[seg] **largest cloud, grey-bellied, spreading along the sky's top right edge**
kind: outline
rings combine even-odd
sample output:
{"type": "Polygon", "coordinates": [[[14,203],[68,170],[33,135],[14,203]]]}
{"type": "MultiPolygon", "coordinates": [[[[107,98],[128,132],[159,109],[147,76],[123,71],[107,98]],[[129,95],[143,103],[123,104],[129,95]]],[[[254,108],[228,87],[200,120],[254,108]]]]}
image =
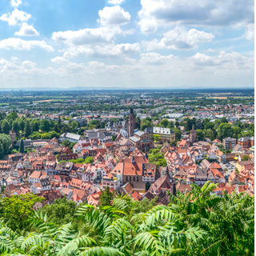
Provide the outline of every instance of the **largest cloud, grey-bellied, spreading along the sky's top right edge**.
{"type": "Polygon", "coordinates": [[[143,33],[159,26],[247,26],[254,23],[254,1],[141,0],[138,24],[143,33]]]}

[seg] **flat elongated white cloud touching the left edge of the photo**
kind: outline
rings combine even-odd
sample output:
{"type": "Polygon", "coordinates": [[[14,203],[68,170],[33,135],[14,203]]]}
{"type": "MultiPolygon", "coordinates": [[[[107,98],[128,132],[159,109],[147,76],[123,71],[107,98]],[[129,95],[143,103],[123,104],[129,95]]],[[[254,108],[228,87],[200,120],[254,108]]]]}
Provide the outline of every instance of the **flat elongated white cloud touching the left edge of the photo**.
{"type": "Polygon", "coordinates": [[[50,52],[54,51],[54,48],[52,46],[48,46],[45,41],[25,41],[20,38],[7,38],[0,41],[0,49],[31,50],[35,47],[39,47],[50,52]]]}

